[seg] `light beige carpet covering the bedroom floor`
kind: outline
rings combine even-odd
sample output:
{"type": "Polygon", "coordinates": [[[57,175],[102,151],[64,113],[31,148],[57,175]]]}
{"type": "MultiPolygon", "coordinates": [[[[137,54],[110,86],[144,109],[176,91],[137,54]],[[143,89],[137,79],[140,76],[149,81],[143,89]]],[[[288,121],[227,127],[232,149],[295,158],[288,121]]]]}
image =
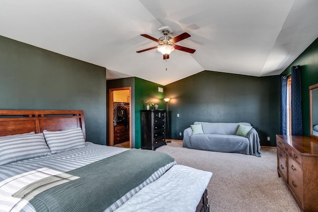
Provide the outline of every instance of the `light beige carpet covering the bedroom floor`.
{"type": "Polygon", "coordinates": [[[261,157],[183,148],[172,141],[156,151],[178,164],[210,171],[210,212],[300,212],[283,179],[277,175],[276,149],[261,149],[261,157]]]}

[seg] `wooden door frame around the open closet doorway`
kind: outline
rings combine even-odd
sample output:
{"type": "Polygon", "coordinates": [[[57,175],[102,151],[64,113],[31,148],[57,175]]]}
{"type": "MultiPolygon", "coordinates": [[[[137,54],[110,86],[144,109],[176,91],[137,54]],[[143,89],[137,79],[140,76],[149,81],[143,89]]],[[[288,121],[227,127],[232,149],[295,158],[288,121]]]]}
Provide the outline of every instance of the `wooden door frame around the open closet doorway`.
{"type": "Polygon", "coordinates": [[[131,148],[131,87],[109,88],[109,145],[114,145],[114,91],[129,90],[129,148],[131,148]]]}

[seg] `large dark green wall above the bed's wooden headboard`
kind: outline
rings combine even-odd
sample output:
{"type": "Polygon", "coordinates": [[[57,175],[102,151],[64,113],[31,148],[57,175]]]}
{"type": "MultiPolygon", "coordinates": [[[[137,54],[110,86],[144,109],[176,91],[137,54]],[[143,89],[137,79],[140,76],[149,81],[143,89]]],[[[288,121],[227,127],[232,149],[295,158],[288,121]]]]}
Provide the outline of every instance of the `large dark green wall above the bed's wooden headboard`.
{"type": "Polygon", "coordinates": [[[0,109],[83,110],[106,144],[106,69],[0,36],[0,109]]]}

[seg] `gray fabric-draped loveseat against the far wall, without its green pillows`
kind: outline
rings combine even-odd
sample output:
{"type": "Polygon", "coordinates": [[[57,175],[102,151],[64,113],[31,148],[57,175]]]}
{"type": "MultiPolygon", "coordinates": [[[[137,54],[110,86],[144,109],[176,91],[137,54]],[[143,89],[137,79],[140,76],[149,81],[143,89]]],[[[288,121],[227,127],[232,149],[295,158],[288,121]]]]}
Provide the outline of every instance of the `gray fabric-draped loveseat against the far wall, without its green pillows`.
{"type": "Polygon", "coordinates": [[[204,134],[192,135],[192,129],[183,132],[183,147],[220,152],[237,152],[255,154],[260,157],[258,133],[252,128],[246,137],[237,136],[239,125],[251,126],[249,123],[209,123],[194,122],[202,125],[204,134]]]}

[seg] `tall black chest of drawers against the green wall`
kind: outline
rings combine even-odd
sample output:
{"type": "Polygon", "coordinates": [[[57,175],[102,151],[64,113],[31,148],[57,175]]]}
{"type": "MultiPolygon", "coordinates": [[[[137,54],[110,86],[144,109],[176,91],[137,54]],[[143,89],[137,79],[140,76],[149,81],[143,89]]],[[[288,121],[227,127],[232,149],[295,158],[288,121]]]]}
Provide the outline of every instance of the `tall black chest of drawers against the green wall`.
{"type": "Polygon", "coordinates": [[[141,148],[155,150],[165,143],[165,110],[141,111],[141,148]]]}

